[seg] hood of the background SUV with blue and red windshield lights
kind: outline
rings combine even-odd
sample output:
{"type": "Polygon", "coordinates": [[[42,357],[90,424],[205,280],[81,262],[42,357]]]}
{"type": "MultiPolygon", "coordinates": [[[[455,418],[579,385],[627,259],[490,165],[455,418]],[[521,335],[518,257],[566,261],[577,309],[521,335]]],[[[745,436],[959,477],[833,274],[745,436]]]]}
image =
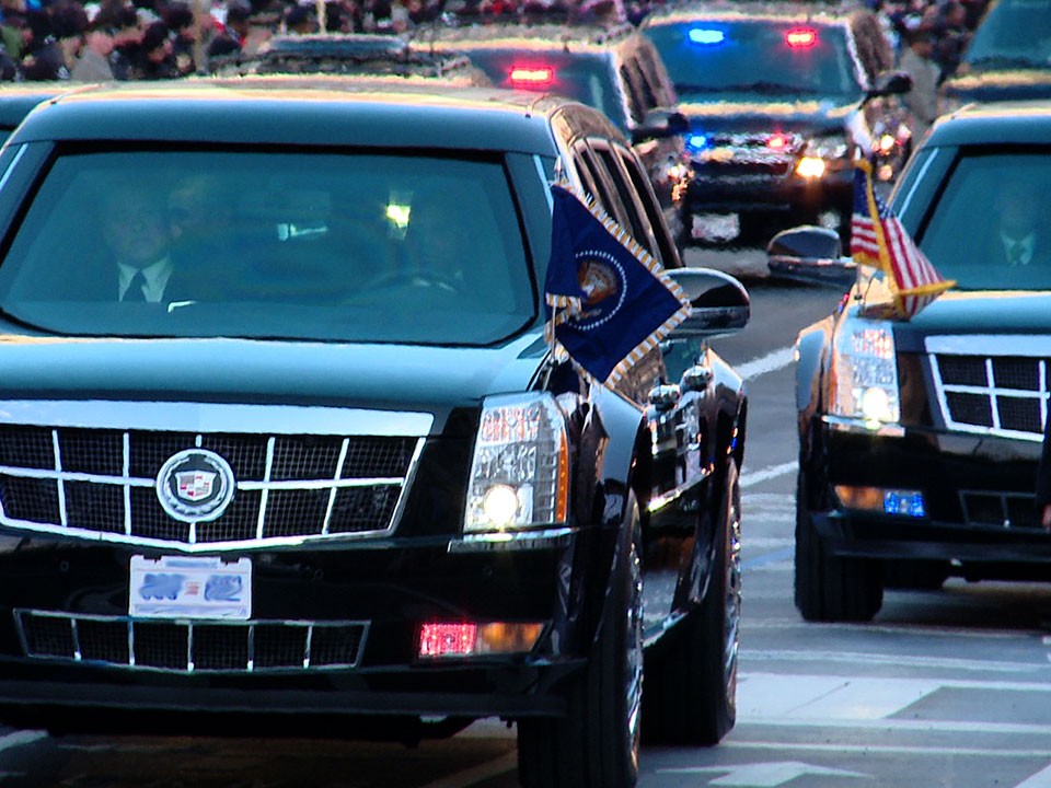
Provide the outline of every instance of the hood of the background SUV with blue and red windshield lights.
{"type": "Polygon", "coordinates": [[[857,108],[856,102],[843,103],[842,99],[760,101],[753,96],[750,101],[734,101],[727,100],[726,94],[709,95],[711,101],[681,97],[679,108],[695,131],[833,134],[843,130],[857,108]]]}

